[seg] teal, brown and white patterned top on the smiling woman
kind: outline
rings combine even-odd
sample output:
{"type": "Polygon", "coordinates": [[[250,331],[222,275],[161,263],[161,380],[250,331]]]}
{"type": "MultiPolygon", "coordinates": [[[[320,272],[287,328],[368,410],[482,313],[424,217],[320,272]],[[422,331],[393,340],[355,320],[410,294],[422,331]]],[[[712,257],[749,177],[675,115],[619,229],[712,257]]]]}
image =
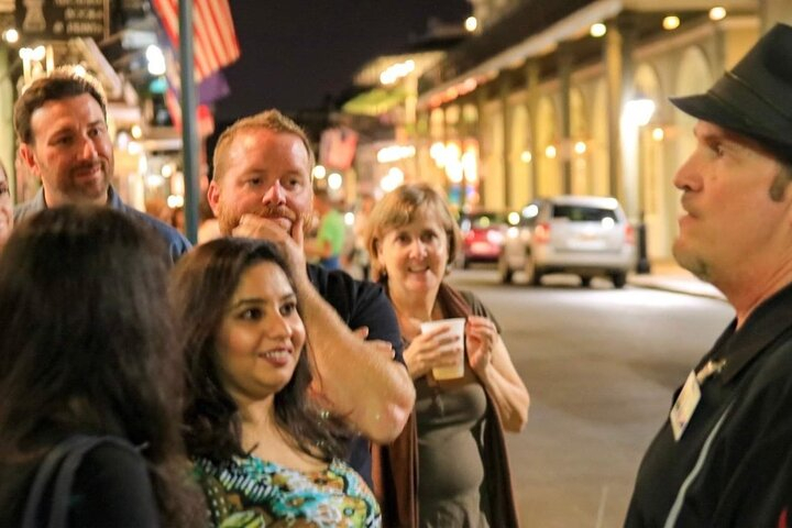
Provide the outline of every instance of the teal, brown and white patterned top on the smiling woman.
{"type": "Polygon", "coordinates": [[[304,473],[256,457],[217,464],[195,460],[212,526],[380,527],[380,505],[355,471],[333,460],[321,471],[304,473]]]}

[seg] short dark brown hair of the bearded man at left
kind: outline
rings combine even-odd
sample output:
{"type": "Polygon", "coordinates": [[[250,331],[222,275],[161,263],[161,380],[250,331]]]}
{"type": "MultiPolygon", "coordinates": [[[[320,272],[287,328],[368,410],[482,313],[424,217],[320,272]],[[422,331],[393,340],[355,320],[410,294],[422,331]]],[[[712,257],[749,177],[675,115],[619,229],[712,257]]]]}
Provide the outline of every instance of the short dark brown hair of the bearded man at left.
{"type": "Polygon", "coordinates": [[[101,107],[107,119],[107,99],[99,81],[88,74],[77,73],[64,66],[56,68],[46,77],[41,77],[28,86],[14,103],[14,131],[22,143],[34,143],[31,119],[33,112],[47,101],[67,99],[88,94],[101,107]]]}

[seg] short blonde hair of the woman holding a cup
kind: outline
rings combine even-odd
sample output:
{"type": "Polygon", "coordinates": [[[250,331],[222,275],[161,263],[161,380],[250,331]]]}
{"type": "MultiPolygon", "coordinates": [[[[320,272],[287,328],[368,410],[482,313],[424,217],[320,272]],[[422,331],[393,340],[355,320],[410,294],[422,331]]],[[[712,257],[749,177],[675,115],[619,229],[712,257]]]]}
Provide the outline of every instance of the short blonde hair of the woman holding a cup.
{"type": "Polygon", "coordinates": [[[459,226],[443,198],[443,194],[429,184],[405,184],[392,190],[369,217],[366,228],[366,249],[371,256],[372,278],[380,280],[385,276],[377,260],[377,251],[385,234],[394,229],[411,223],[420,213],[433,212],[448,238],[448,266],[457,258],[462,242],[459,226]]]}

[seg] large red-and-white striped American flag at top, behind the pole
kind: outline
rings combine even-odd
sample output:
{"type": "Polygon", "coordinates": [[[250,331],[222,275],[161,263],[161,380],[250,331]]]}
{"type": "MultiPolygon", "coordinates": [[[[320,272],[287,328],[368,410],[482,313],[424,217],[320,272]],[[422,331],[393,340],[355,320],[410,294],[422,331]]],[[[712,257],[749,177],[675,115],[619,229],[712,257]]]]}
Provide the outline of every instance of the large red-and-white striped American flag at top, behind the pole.
{"type": "MultiPolygon", "coordinates": [[[[237,61],[240,46],[228,0],[193,1],[195,78],[199,82],[237,61]]],[[[179,35],[178,2],[179,0],[152,0],[154,11],[175,50],[178,50],[179,35]]]]}

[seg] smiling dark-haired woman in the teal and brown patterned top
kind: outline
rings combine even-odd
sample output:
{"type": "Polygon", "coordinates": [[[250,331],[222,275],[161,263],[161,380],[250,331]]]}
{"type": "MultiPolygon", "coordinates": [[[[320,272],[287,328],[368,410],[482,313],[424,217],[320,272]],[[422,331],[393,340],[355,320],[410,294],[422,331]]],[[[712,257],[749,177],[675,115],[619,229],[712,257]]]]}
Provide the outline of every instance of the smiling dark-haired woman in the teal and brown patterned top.
{"type": "Polygon", "coordinates": [[[174,270],[188,366],[185,441],[215,526],[380,526],[341,461],[344,425],[309,398],[306,329],[274,246],[218,239],[174,270]]]}

